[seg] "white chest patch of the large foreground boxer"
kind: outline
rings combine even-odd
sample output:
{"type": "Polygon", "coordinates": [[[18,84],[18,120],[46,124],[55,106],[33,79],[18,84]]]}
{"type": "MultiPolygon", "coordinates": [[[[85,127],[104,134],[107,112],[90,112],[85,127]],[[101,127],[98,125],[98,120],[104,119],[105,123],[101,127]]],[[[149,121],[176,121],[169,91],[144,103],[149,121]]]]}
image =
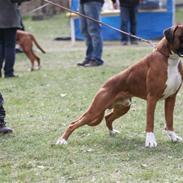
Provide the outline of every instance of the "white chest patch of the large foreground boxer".
{"type": "Polygon", "coordinates": [[[176,56],[172,56],[168,60],[168,70],[167,70],[167,81],[166,81],[166,88],[163,93],[163,99],[168,98],[169,96],[176,93],[178,88],[182,83],[182,77],[178,70],[178,65],[180,60],[176,56]]]}

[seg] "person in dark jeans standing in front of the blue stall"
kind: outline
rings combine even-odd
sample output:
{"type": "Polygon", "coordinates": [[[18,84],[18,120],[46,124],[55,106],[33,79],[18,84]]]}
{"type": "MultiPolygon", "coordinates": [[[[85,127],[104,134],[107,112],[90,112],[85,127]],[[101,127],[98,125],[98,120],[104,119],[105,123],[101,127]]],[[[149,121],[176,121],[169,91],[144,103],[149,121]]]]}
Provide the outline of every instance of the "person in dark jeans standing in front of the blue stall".
{"type": "MultiPolygon", "coordinates": [[[[117,6],[117,0],[112,0],[114,8],[117,6]]],[[[140,0],[119,0],[120,16],[121,16],[121,30],[128,31],[128,24],[130,25],[130,33],[136,35],[136,16],[137,8],[140,0]]],[[[130,37],[131,44],[137,44],[135,38],[130,37]]],[[[128,44],[128,36],[121,34],[121,44],[128,44]]]]}

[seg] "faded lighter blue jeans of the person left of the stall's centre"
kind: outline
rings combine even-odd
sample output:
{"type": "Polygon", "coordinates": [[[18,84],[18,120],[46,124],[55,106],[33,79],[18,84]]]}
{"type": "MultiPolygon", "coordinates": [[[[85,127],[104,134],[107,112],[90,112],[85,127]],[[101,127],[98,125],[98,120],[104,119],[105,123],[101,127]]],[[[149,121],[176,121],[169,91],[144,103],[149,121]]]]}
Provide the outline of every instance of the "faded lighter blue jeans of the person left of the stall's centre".
{"type": "MultiPolygon", "coordinates": [[[[88,2],[80,4],[80,13],[99,20],[102,3],[88,2]]],[[[100,24],[92,20],[80,17],[81,33],[86,40],[86,57],[85,60],[95,60],[96,62],[103,63],[102,60],[102,48],[103,40],[101,36],[100,24]]]]}

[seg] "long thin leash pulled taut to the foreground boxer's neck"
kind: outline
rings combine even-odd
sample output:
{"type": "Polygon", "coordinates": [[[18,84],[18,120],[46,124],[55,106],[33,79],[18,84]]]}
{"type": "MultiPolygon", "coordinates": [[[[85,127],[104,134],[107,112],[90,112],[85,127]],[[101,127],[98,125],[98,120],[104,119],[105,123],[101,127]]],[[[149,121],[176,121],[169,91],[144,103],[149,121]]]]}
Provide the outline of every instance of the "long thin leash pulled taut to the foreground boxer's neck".
{"type": "Polygon", "coordinates": [[[147,39],[144,39],[144,38],[142,38],[142,37],[133,35],[133,34],[131,34],[131,33],[122,31],[122,30],[120,30],[120,29],[118,29],[118,28],[116,28],[116,27],[113,27],[112,25],[109,25],[109,24],[104,23],[104,22],[102,22],[102,21],[96,20],[96,19],[94,19],[94,18],[92,18],[92,17],[90,17],[90,16],[81,14],[81,13],[79,13],[78,11],[71,10],[70,8],[67,8],[67,7],[65,7],[65,6],[63,6],[63,5],[60,5],[60,4],[58,4],[58,3],[54,3],[54,2],[49,1],[49,0],[43,0],[43,1],[46,2],[46,4],[44,4],[44,5],[42,5],[42,6],[38,7],[38,8],[36,8],[36,9],[34,9],[34,10],[32,10],[31,13],[33,13],[33,12],[35,12],[35,11],[38,11],[38,10],[40,10],[40,9],[42,9],[42,8],[44,8],[44,7],[46,7],[46,6],[48,6],[49,4],[51,4],[51,5],[53,5],[53,6],[59,7],[59,8],[61,8],[61,9],[64,9],[64,10],[70,12],[70,13],[74,13],[74,14],[79,15],[79,16],[82,16],[82,17],[84,17],[84,18],[86,18],[86,19],[89,19],[89,20],[92,20],[92,21],[94,21],[94,22],[97,22],[97,23],[99,23],[99,24],[101,24],[101,25],[104,25],[104,26],[106,26],[106,27],[109,27],[110,29],[113,29],[113,30],[115,30],[115,31],[117,31],[117,32],[123,33],[123,34],[125,34],[125,35],[127,35],[127,36],[130,36],[130,37],[132,37],[132,38],[135,38],[135,39],[137,39],[137,40],[139,40],[139,41],[143,41],[143,42],[145,42],[145,43],[151,45],[153,48],[156,47],[155,44],[154,44],[151,40],[147,40],[147,39]]]}

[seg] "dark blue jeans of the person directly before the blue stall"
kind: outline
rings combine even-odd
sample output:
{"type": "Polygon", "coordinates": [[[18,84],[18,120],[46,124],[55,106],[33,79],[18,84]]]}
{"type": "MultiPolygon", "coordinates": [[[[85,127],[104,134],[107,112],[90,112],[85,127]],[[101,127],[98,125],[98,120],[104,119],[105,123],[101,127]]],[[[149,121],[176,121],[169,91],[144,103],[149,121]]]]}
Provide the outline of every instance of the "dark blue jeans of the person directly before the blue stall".
{"type": "MultiPolygon", "coordinates": [[[[137,6],[120,7],[122,31],[129,32],[128,25],[130,24],[130,33],[136,35],[136,14],[137,14],[137,6]]],[[[135,39],[130,37],[130,40],[134,41],[135,39]]],[[[128,36],[122,33],[121,41],[128,41],[128,36]]]]}

